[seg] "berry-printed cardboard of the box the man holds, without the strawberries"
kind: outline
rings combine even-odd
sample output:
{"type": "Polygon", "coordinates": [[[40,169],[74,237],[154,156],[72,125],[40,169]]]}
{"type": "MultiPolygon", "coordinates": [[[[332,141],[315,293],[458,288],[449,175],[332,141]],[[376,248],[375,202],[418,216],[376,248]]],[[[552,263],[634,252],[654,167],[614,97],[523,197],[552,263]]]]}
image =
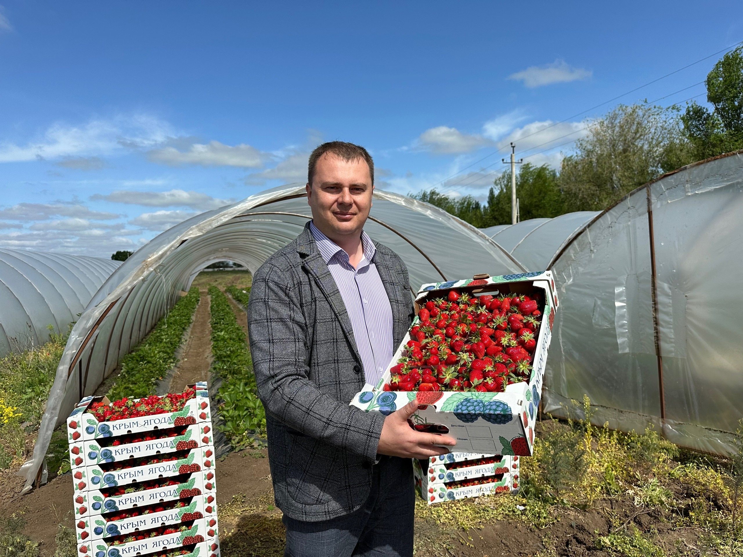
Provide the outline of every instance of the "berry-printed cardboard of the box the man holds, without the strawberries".
{"type": "Polygon", "coordinates": [[[411,330],[420,327],[418,315],[426,307],[426,302],[446,300],[447,296],[451,297],[452,290],[457,296],[466,294],[467,299],[475,302],[480,296],[531,296],[541,301],[538,329],[535,326],[533,345],[530,346],[533,354],[528,355],[528,365],[524,366],[529,369],[528,378],[510,382],[504,386],[503,392],[482,392],[476,390],[475,385],[465,391],[396,391],[392,385],[392,368],[409,354],[409,341],[412,340],[409,330],[377,385],[358,393],[351,405],[363,411],[390,414],[417,397],[421,406],[412,416],[412,425],[422,431],[448,432],[457,440],[458,452],[531,455],[534,420],[558,305],[552,274],[544,271],[495,277],[485,275],[472,280],[424,284],[416,296],[417,316],[411,330]]]}

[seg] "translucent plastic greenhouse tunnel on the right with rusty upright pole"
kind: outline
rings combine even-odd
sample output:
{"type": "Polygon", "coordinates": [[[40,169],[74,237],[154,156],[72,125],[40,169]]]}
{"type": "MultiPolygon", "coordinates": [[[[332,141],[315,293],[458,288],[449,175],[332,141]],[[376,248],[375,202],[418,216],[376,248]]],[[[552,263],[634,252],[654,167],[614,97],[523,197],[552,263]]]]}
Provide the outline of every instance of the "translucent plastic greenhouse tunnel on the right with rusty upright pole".
{"type": "Polygon", "coordinates": [[[743,151],[694,163],[631,192],[560,249],[544,411],[568,417],[587,394],[599,426],[654,426],[680,446],[736,451],[742,189],[743,151]]]}

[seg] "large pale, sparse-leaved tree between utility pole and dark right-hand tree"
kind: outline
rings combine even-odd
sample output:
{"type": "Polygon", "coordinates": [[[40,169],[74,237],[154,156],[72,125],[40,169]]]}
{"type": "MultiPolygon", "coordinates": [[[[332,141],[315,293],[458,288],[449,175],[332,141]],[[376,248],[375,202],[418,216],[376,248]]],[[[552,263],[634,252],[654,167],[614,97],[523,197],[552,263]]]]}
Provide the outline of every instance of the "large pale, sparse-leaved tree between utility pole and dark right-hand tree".
{"type": "Polygon", "coordinates": [[[677,113],[675,107],[618,105],[589,123],[574,154],[562,159],[563,210],[601,211],[690,162],[677,113]]]}

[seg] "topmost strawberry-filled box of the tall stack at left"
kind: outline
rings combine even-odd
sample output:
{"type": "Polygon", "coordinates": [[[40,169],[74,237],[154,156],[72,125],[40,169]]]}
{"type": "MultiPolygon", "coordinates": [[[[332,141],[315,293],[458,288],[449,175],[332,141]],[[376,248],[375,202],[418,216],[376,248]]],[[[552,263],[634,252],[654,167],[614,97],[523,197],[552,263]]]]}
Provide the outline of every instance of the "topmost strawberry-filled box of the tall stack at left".
{"type": "Polygon", "coordinates": [[[106,397],[85,397],[67,418],[68,439],[73,443],[210,420],[206,382],[188,385],[183,393],[163,397],[123,398],[114,403],[106,397]]]}

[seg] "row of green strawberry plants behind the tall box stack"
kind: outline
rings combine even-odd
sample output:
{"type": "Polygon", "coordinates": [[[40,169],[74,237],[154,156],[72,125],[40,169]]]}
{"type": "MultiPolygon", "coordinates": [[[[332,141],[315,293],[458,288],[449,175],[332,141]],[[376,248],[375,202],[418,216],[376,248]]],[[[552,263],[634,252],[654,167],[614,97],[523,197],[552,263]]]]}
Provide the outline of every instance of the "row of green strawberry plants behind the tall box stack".
{"type": "Polygon", "coordinates": [[[155,393],[158,381],[177,362],[175,351],[198,306],[198,288],[192,288],[160,319],[146,338],[121,360],[121,373],[108,391],[110,400],[141,398],[155,393]]]}

